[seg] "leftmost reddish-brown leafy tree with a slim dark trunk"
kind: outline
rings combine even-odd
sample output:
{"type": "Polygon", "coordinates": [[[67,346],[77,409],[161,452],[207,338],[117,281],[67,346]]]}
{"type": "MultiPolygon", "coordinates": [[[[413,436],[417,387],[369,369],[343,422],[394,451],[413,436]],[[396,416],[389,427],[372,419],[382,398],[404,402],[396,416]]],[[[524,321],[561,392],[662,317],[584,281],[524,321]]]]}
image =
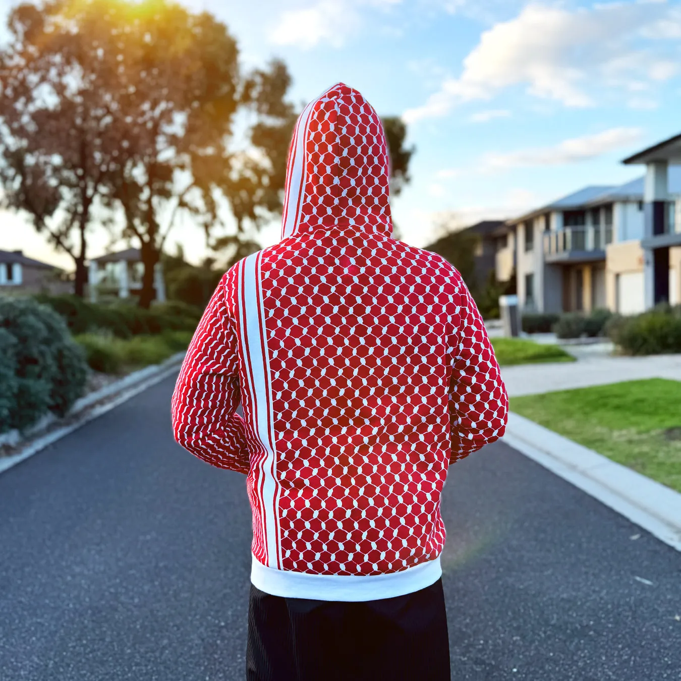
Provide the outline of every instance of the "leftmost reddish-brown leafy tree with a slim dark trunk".
{"type": "Polygon", "coordinates": [[[83,295],[89,228],[106,219],[108,173],[116,163],[114,36],[92,11],[63,0],[22,4],[0,50],[2,204],[74,259],[83,295]],[[74,26],[78,30],[74,30],[74,26]]]}

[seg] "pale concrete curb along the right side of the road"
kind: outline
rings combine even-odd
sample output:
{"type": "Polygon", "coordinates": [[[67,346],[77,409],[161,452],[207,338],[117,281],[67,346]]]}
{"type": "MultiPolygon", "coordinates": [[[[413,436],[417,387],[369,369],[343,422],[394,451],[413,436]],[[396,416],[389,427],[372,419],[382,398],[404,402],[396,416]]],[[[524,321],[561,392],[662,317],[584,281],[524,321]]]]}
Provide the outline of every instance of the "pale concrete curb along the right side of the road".
{"type": "Polygon", "coordinates": [[[503,441],[681,551],[681,494],[516,413],[503,441]]]}

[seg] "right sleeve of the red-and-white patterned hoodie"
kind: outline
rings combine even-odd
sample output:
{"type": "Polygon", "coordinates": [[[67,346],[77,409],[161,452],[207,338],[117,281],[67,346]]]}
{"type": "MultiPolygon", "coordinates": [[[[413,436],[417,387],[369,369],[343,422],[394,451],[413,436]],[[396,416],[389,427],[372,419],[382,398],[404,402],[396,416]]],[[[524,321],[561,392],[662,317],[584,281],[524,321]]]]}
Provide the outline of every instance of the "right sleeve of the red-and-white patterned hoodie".
{"type": "Polygon", "coordinates": [[[458,276],[456,320],[449,384],[452,428],[450,463],[498,440],[506,430],[508,397],[485,324],[458,276]]]}

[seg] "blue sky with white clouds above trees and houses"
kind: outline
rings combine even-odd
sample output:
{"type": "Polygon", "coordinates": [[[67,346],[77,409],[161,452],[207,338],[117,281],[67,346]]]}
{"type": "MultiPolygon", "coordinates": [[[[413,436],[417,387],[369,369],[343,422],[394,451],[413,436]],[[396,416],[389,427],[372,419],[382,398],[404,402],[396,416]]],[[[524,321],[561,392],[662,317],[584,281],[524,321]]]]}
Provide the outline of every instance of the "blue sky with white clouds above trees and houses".
{"type": "MultiPolygon", "coordinates": [[[[236,37],[244,67],[287,63],[297,103],[334,82],[407,123],[411,184],[392,201],[402,238],[443,221],[521,215],[585,185],[642,174],[631,153],[681,132],[681,1],[184,0],[236,37]]],[[[12,5],[0,0],[4,22],[12,5]]],[[[278,225],[260,235],[276,241],[278,225]]],[[[182,225],[193,262],[204,236],[182,225]]],[[[103,252],[104,235],[91,239],[103,252]]],[[[0,249],[69,266],[0,213],[0,249]]]]}

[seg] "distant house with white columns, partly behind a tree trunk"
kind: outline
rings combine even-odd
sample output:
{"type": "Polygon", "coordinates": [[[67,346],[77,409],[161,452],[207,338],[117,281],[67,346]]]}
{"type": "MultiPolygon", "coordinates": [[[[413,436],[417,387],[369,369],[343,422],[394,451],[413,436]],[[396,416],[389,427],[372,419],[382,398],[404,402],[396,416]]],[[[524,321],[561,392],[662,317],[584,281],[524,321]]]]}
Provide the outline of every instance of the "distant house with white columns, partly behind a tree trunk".
{"type": "MultiPolygon", "coordinates": [[[[95,302],[100,296],[106,295],[118,298],[139,295],[143,274],[140,249],[125,249],[93,258],[90,260],[88,278],[90,300],[95,302]]],[[[164,302],[165,280],[161,263],[154,268],[154,289],[156,300],[164,302]]]]}

